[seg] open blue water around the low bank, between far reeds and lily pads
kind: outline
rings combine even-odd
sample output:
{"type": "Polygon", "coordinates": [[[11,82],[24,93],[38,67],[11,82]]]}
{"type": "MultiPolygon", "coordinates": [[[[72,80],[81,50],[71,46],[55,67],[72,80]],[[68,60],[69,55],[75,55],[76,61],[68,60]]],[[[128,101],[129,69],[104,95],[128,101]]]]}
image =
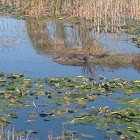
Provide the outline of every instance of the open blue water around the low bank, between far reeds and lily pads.
{"type": "MultiPolygon", "coordinates": [[[[78,75],[97,77],[100,73],[106,76],[113,73],[112,77],[118,77],[121,71],[127,71],[126,68],[113,70],[88,64],[83,67],[63,66],[47,57],[57,49],[86,47],[92,41],[101,44],[101,47],[111,49],[112,52],[139,52],[127,35],[103,33],[99,35],[81,24],[74,26],[74,23],[60,21],[23,21],[0,17],[0,71],[23,72],[29,77],[78,75]]],[[[134,68],[129,70],[133,74],[132,79],[138,77],[139,73],[134,68]]],[[[121,76],[131,79],[125,73],[121,76]]]]}

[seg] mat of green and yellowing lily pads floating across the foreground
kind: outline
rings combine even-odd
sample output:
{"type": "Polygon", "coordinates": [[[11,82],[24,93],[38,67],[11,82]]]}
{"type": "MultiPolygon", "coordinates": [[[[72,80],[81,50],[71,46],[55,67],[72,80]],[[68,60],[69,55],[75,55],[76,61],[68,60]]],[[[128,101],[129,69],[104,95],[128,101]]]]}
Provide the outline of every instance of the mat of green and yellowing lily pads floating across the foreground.
{"type": "MultiPolygon", "coordinates": [[[[0,115],[0,120],[4,125],[12,123],[11,118],[18,119],[22,115],[18,109],[28,107],[33,109],[33,111],[27,112],[29,118],[26,122],[28,123],[38,123],[36,117],[43,118],[44,122],[65,119],[66,121],[63,122],[65,125],[96,124],[97,130],[108,131],[106,132],[107,137],[139,138],[140,100],[131,98],[131,95],[140,93],[139,79],[133,81],[121,78],[108,80],[99,76],[98,82],[83,76],[29,79],[24,78],[22,73],[5,75],[1,72],[0,75],[0,85],[2,85],[0,86],[0,112],[3,113],[0,115]],[[96,99],[107,98],[106,95],[113,95],[116,92],[120,92],[122,97],[115,98],[114,101],[122,103],[126,107],[111,109],[109,106],[92,106],[86,108],[88,104],[96,102],[96,99]],[[41,103],[34,101],[40,98],[42,98],[41,103]],[[49,106],[51,109],[46,109],[49,106]],[[111,130],[112,128],[113,130],[111,130]]],[[[37,131],[34,130],[32,133],[37,133],[37,131]]],[[[76,133],[66,131],[65,138],[71,136],[76,138],[76,133]]],[[[87,134],[81,134],[81,136],[94,138],[87,134]]]]}

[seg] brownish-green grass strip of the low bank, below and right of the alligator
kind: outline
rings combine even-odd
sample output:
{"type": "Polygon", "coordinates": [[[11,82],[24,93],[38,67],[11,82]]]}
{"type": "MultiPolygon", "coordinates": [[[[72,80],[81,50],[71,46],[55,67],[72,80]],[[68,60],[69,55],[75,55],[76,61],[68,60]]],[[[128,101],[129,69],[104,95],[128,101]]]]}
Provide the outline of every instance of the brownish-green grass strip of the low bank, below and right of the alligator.
{"type": "Polygon", "coordinates": [[[114,69],[127,66],[134,66],[137,70],[140,69],[139,55],[130,56],[128,54],[114,54],[99,59],[89,59],[88,62],[86,63],[84,60],[67,59],[65,57],[55,59],[54,61],[63,65],[73,65],[73,66],[84,66],[95,64],[109,66],[114,69]]]}

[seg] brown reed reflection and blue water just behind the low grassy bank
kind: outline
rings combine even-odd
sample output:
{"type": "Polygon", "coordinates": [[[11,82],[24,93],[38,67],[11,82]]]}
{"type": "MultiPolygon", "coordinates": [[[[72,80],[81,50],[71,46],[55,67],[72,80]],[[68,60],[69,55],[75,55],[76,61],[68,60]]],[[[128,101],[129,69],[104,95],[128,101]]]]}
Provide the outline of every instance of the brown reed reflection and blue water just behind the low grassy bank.
{"type": "MultiPolygon", "coordinates": [[[[132,43],[132,36],[122,34],[98,34],[94,30],[81,24],[65,23],[60,21],[27,20],[27,29],[33,45],[42,49],[51,46],[51,49],[86,47],[93,41],[111,53],[137,53],[139,48],[132,43]],[[44,47],[43,47],[44,46],[44,47]]],[[[37,51],[39,51],[37,49],[37,51]]],[[[49,50],[48,50],[49,51],[49,50]]],[[[43,51],[44,52],[44,51],[43,51]]]]}

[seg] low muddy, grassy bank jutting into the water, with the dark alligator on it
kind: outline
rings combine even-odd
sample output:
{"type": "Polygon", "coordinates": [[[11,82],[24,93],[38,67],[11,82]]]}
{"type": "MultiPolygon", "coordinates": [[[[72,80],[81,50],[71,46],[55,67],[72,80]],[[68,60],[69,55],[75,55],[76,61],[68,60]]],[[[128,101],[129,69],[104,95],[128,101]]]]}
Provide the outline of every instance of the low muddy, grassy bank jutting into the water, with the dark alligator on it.
{"type": "Polygon", "coordinates": [[[84,66],[84,65],[106,65],[112,68],[120,68],[126,66],[135,67],[140,70],[140,53],[135,55],[128,54],[68,54],[68,55],[57,55],[53,58],[53,61],[58,62],[62,65],[72,66],[84,66]]]}

